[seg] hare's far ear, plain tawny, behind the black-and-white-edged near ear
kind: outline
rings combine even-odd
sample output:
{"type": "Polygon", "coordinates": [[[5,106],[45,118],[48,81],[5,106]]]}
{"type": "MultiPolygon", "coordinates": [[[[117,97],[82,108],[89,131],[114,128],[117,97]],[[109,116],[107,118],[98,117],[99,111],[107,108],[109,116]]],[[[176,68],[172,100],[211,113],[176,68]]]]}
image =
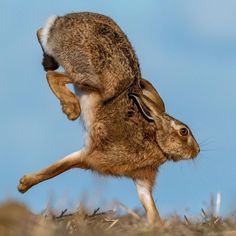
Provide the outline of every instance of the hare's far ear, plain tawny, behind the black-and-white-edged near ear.
{"type": "Polygon", "coordinates": [[[155,106],[160,112],[165,112],[165,104],[153,85],[149,81],[141,79],[140,87],[142,89],[143,95],[155,103],[155,106]]]}

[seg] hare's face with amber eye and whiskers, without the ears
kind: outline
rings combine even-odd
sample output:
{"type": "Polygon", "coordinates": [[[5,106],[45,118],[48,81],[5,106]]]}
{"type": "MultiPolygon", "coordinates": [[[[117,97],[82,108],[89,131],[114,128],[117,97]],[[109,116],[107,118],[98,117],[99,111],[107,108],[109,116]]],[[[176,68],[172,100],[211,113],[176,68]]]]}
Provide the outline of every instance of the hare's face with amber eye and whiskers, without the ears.
{"type": "Polygon", "coordinates": [[[197,156],[200,147],[188,126],[166,114],[159,117],[156,123],[157,142],[167,159],[179,161],[197,156]]]}

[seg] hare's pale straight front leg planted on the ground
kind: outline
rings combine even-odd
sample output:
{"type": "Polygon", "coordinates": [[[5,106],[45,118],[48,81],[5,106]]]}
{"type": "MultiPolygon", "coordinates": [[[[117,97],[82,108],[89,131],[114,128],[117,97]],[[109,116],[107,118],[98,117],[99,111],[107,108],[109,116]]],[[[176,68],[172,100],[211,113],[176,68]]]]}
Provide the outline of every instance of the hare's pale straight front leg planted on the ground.
{"type": "Polygon", "coordinates": [[[163,225],[152,197],[152,183],[148,180],[136,180],[135,183],[139,199],[147,213],[148,223],[153,224],[157,222],[159,225],[163,225]]]}

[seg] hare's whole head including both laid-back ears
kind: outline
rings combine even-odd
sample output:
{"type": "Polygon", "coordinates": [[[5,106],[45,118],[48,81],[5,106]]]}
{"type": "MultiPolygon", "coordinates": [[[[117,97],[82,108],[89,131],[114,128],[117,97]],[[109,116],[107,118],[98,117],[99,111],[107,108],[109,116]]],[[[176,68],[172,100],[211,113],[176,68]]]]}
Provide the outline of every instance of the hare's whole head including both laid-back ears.
{"type": "Polygon", "coordinates": [[[130,94],[142,114],[157,127],[156,141],[168,160],[193,159],[200,147],[189,127],[165,113],[164,102],[154,87],[141,81],[142,94],[130,94]]]}

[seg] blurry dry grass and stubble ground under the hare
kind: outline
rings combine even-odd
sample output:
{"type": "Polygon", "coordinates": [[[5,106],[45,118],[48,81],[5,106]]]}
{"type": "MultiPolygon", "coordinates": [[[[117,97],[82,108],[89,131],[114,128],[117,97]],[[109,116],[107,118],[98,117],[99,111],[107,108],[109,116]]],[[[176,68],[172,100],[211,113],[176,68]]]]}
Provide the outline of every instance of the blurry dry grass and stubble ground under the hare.
{"type": "MultiPolygon", "coordinates": [[[[120,207],[126,208],[124,205],[120,207]]],[[[236,235],[236,217],[215,217],[202,210],[200,220],[181,220],[178,216],[165,219],[165,226],[148,226],[145,218],[136,212],[117,216],[113,211],[95,210],[88,214],[82,208],[73,214],[66,211],[59,215],[46,212],[35,215],[18,202],[6,202],[0,206],[1,236],[64,236],[64,235],[236,235]]]]}

